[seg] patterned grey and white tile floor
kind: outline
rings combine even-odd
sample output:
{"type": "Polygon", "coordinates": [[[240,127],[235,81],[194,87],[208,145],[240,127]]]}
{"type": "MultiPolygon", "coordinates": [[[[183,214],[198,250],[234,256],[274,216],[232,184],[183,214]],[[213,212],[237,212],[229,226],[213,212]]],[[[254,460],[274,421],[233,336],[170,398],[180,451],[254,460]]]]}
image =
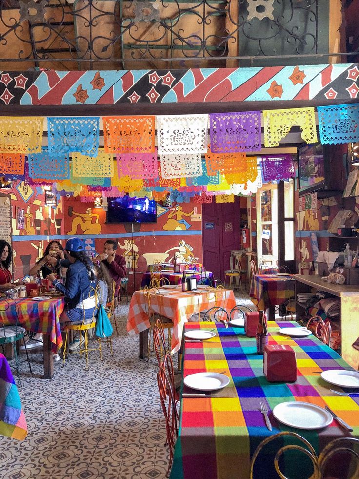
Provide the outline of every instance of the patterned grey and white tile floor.
{"type": "MultiPolygon", "coordinates": [[[[236,292],[237,303],[252,306],[236,292]]],[[[31,352],[31,376],[20,355],[20,398],[29,434],[0,436],[0,478],[163,479],[168,465],[156,360],[138,357],[139,338],[126,333],[128,305],[117,310],[114,356],[90,355],[90,370],[74,354],[53,379],[41,379],[41,353],[31,352]]]]}

